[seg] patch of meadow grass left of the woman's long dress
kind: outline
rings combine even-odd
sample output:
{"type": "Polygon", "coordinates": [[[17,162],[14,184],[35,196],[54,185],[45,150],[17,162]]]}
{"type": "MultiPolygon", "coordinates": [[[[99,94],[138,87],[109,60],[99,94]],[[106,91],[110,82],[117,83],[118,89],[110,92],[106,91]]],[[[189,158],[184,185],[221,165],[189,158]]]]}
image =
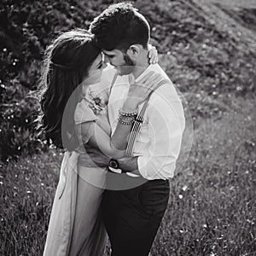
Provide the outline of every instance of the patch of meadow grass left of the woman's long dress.
{"type": "Polygon", "coordinates": [[[49,151],[2,166],[1,255],[43,254],[60,160],[49,151]]]}

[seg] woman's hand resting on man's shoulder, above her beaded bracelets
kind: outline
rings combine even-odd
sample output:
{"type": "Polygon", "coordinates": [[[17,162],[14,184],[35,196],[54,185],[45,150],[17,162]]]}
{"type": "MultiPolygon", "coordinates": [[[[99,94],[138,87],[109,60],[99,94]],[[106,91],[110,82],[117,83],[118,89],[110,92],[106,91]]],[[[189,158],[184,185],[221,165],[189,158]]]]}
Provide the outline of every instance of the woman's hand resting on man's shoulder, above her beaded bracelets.
{"type": "Polygon", "coordinates": [[[161,80],[162,76],[159,73],[150,71],[134,84],[130,84],[128,96],[125,99],[123,110],[131,111],[136,109],[138,105],[143,103],[149,94],[157,88],[157,85],[161,80]]]}

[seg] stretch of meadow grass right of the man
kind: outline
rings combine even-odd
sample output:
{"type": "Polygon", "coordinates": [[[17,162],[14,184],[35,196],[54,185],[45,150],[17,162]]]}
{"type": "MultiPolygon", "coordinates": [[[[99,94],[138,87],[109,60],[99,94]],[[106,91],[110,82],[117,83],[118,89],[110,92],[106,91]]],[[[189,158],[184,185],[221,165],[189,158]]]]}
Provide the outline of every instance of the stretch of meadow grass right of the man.
{"type": "Polygon", "coordinates": [[[184,170],[172,182],[152,255],[255,255],[255,113],[249,101],[201,119],[184,170]]]}

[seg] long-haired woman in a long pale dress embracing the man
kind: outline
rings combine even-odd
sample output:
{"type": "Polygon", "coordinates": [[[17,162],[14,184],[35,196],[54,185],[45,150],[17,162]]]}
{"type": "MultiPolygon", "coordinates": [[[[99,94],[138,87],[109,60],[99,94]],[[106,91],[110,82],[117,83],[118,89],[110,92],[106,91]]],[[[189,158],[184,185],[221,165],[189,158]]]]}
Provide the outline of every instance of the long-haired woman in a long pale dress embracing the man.
{"type": "Polygon", "coordinates": [[[84,30],[62,33],[46,50],[41,83],[42,127],[46,137],[66,152],[49,220],[45,256],[103,254],[106,233],[100,203],[106,171],[88,167],[91,163],[84,148],[97,148],[109,158],[122,158],[137,107],[160,81],[159,75],[150,73],[138,82],[143,86],[130,86],[120,109],[119,125],[109,137],[106,115],[96,114],[86,100],[90,98],[88,86],[101,80],[104,67],[101,49],[84,30]]]}

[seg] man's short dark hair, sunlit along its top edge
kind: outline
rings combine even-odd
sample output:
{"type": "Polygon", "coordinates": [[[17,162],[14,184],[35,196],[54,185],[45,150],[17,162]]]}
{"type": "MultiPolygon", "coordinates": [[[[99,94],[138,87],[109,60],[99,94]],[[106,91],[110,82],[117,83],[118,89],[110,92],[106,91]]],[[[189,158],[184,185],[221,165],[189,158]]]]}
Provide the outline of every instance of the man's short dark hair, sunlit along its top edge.
{"type": "Polygon", "coordinates": [[[147,48],[150,28],[148,21],[131,3],[116,3],[105,9],[90,24],[90,32],[101,49],[128,49],[131,44],[147,48]]]}

